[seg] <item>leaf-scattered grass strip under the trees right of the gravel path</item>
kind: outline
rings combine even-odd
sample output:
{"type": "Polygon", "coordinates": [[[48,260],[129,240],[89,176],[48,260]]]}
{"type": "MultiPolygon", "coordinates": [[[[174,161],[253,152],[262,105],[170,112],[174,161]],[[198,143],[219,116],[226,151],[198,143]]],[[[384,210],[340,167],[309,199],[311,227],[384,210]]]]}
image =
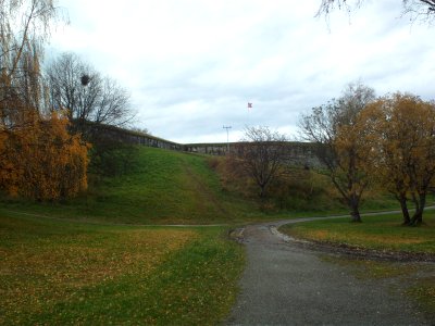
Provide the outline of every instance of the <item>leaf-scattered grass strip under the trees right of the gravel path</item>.
{"type": "Polygon", "coordinates": [[[297,238],[331,243],[435,254],[435,213],[427,211],[419,227],[401,226],[399,214],[364,216],[363,223],[347,220],[314,221],[285,225],[282,231],[297,238]]]}

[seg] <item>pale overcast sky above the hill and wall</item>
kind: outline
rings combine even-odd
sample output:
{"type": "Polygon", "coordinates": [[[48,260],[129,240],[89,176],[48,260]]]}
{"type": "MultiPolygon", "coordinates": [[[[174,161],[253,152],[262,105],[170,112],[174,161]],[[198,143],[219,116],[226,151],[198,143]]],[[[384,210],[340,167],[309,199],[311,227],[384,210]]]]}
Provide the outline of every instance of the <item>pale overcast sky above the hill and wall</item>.
{"type": "Polygon", "coordinates": [[[291,135],[300,115],[361,79],[377,95],[433,99],[435,27],[401,1],[365,1],[330,25],[320,0],[59,0],[71,24],[50,53],[73,51],[132,96],[134,125],[178,142],[229,141],[245,126],[291,135]],[[252,103],[248,111],[247,103],[252,103]]]}

